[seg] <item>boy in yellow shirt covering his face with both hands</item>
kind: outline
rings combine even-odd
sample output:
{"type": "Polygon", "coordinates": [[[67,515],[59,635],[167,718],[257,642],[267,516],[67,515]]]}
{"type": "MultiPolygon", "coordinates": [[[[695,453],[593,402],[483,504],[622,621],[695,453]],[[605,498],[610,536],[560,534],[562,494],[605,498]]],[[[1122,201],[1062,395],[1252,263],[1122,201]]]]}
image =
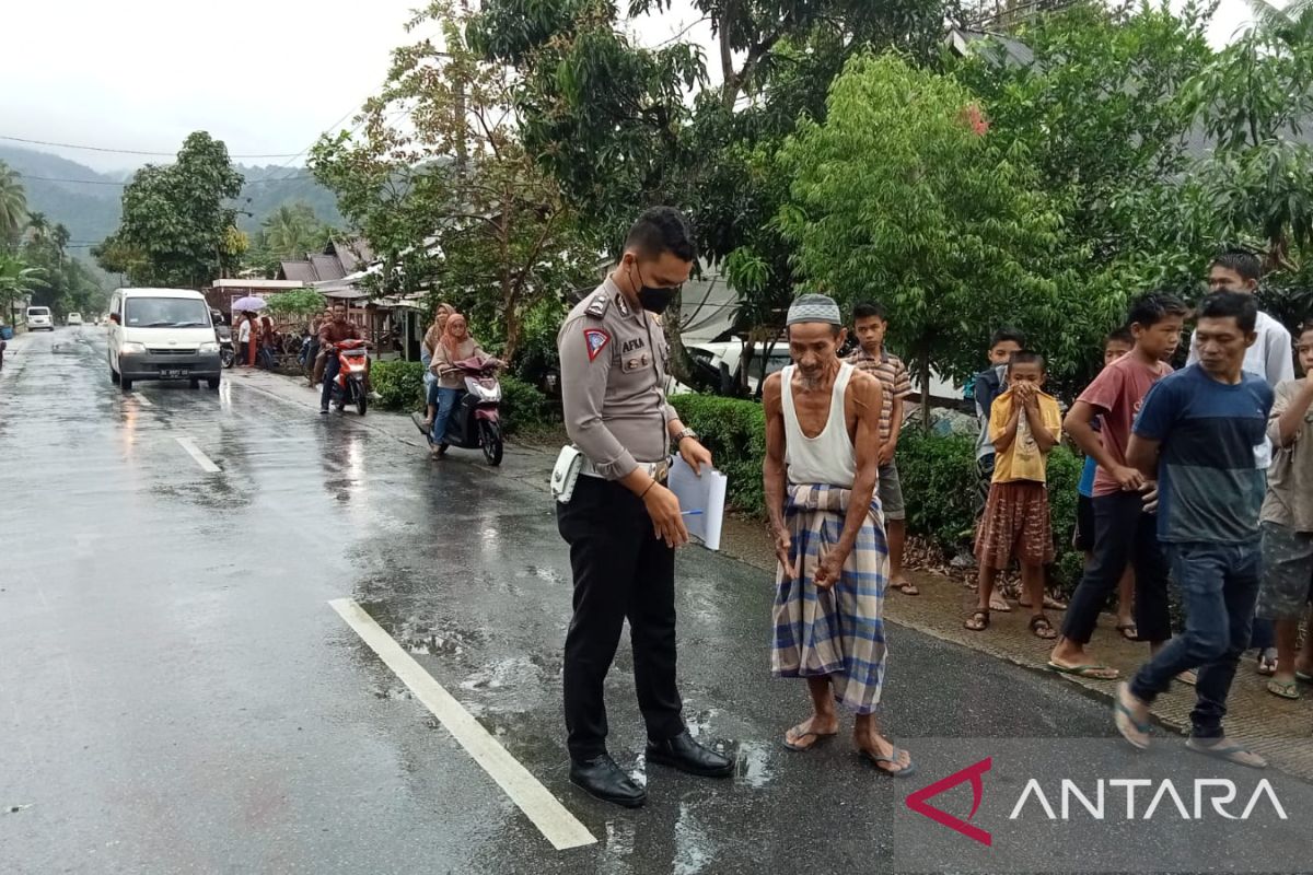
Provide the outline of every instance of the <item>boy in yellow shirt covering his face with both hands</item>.
{"type": "Polygon", "coordinates": [[[1022,589],[1031,602],[1031,631],[1036,638],[1053,639],[1057,631],[1044,615],[1044,565],[1053,561],[1054,552],[1045,480],[1049,450],[1062,436],[1062,412],[1057,399],[1041,391],[1044,357],[1039,353],[1014,353],[1007,384],[990,411],[989,437],[997,457],[976,535],[979,601],[966,628],[989,628],[994,577],[1015,556],[1022,564],[1022,589]]]}

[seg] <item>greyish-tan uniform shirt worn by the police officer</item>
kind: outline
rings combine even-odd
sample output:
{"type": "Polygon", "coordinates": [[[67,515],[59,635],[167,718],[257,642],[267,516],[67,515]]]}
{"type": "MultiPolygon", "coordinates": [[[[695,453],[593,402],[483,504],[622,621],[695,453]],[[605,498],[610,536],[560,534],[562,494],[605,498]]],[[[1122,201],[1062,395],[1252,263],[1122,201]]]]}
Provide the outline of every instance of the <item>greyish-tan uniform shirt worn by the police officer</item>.
{"type": "Polygon", "coordinates": [[[597,474],[620,480],[670,453],[666,401],[670,346],[656,319],[607,277],[557,335],[561,401],[570,439],[597,474]]]}

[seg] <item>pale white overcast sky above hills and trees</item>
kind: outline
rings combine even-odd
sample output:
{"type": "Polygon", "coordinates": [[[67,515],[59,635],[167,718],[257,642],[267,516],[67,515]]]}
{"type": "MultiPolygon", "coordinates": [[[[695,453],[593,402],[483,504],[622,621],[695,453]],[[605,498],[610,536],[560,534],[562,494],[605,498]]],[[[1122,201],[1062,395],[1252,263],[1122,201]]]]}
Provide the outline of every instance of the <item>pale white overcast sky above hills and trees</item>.
{"type": "MultiPolygon", "coordinates": [[[[0,135],[118,150],[175,152],[194,130],[225,140],[244,164],[299,165],[320,131],[378,89],[389,51],[418,0],[32,0],[5,4],[0,135]]],[[[633,22],[647,45],[699,14],[692,0],[633,22]]],[[[1222,0],[1213,42],[1246,21],[1222,0]]],[[[691,37],[710,42],[704,24],[691,37]]],[[[714,54],[709,51],[709,58],[714,54]]],[[[714,67],[714,64],[713,64],[714,67]]],[[[22,146],[0,140],[9,146],[22,146]]],[[[34,146],[98,171],[159,157],[34,146]]]]}

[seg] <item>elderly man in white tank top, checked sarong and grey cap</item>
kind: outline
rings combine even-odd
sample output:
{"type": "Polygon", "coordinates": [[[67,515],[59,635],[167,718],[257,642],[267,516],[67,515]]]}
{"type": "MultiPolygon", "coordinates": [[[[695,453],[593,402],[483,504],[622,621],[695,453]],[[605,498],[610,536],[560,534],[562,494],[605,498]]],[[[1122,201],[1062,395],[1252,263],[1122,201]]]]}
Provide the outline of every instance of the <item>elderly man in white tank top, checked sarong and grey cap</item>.
{"type": "Polygon", "coordinates": [[[784,745],[807,750],[838,735],[835,702],[856,712],[853,743],[881,771],[915,766],[880,733],[889,550],[876,497],[881,386],[840,362],[839,307],[802,295],[789,308],[793,365],[765,382],[765,497],[776,575],[776,677],[805,677],[813,714],[784,745]]]}

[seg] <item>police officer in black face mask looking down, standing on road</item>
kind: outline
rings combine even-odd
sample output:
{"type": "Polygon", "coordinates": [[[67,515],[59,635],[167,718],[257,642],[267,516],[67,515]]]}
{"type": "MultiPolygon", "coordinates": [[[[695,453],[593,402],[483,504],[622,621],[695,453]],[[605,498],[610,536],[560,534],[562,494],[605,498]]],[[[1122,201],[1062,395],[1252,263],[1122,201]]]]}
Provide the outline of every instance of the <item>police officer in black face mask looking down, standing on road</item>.
{"type": "Polygon", "coordinates": [[[675,548],[688,542],[679,499],[666,488],[670,445],[695,470],[712,454],[666,401],[668,348],[655,314],[693,265],[692,230],[671,207],[643,213],[616,270],[566,317],[557,337],[566,429],[584,454],[567,504],[574,615],[566,635],[565,710],[570,781],[637,808],[646,791],[607,753],[603,686],[629,618],[647,762],[725,777],[734,763],[684,728],[675,682],[675,548]]]}

